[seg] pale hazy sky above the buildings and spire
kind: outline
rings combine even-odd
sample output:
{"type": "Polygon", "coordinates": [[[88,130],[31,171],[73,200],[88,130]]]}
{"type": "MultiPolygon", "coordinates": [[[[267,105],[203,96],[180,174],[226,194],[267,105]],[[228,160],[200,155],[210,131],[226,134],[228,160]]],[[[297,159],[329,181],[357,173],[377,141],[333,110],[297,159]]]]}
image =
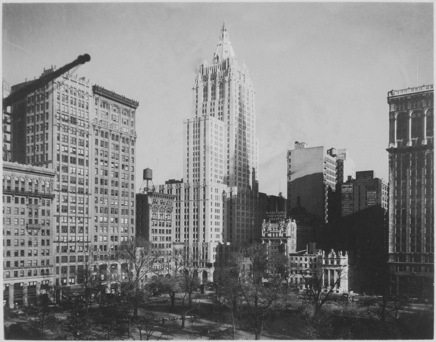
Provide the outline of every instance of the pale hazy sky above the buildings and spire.
{"type": "Polygon", "coordinates": [[[433,84],[433,3],[6,3],[3,79],[88,53],[75,73],[139,101],[136,170],[162,184],[183,176],[191,89],[224,18],[256,91],[261,192],[281,183],[286,196],[296,140],[347,148],[357,171],[387,180],[387,92],[416,86],[417,72],[433,84]]]}

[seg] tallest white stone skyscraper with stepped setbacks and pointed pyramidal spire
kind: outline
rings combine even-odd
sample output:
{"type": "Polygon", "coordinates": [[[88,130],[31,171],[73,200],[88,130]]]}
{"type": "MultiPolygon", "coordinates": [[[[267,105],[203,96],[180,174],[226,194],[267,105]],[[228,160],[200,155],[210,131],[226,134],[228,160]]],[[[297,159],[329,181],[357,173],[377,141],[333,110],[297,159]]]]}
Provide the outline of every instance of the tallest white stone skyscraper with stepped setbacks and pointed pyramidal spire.
{"type": "Polygon", "coordinates": [[[177,196],[175,242],[198,248],[204,267],[212,267],[218,243],[253,242],[261,232],[255,91],[225,22],[211,64],[201,62],[192,90],[184,183],[160,185],[159,191],[177,196]]]}

